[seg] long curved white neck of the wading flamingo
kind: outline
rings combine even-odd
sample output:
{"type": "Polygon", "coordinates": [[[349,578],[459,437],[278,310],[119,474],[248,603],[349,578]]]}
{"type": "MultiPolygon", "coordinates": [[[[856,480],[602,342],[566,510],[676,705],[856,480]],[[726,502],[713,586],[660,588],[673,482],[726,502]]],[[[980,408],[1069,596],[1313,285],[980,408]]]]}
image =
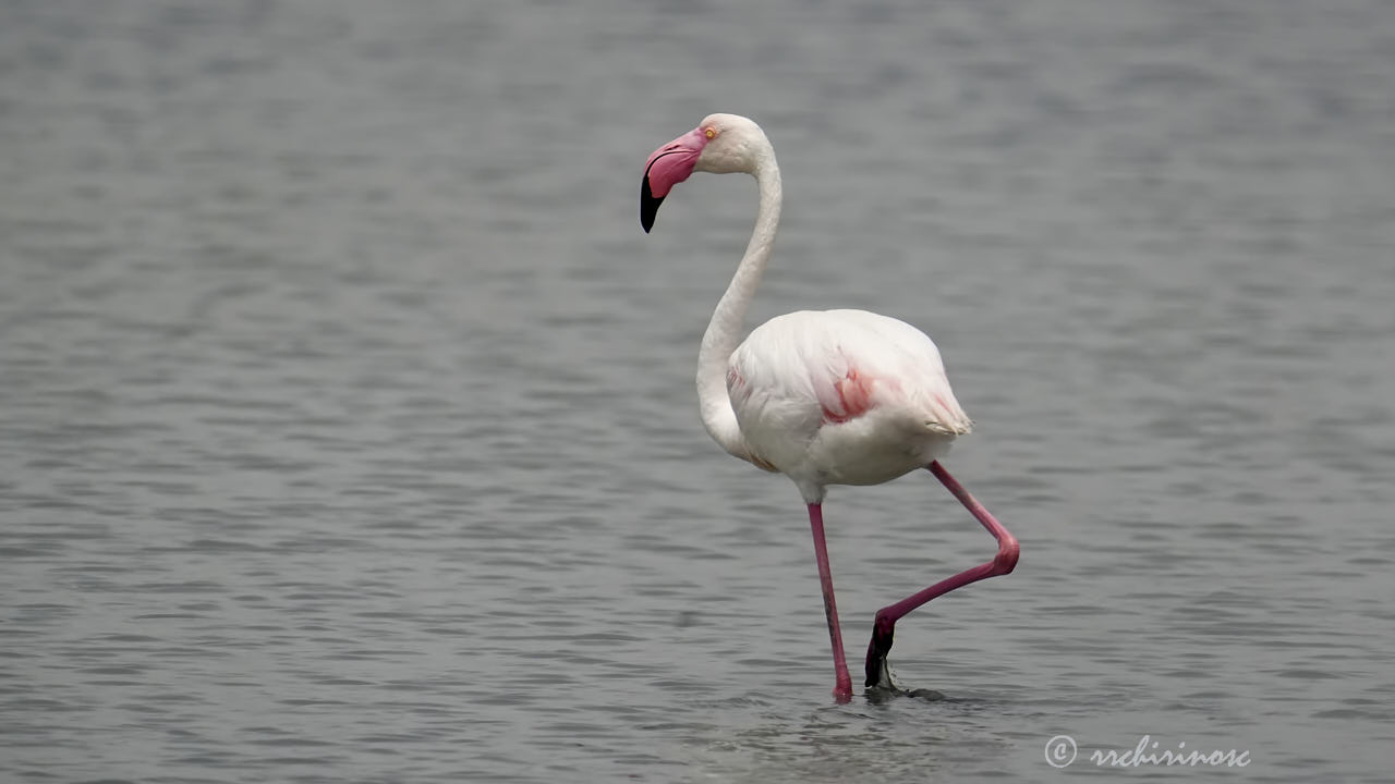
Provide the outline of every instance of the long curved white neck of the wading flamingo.
{"type": "Polygon", "coordinates": [[[746,244],[746,255],[742,257],[737,273],[727,286],[727,293],[717,301],[717,310],[707,322],[707,332],[702,336],[702,349],[698,350],[698,405],[702,410],[702,423],[723,449],[742,459],[751,459],[751,453],[741,437],[737,414],[731,410],[731,398],[727,395],[727,361],[741,342],[746,307],[756,293],[756,286],[760,285],[760,275],[770,261],[776,229],[780,226],[780,166],[776,165],[776,155],[769,142],[757,155],[752,176],[760,188],[756,227],[751,233],[751,243],[746,244]]]}

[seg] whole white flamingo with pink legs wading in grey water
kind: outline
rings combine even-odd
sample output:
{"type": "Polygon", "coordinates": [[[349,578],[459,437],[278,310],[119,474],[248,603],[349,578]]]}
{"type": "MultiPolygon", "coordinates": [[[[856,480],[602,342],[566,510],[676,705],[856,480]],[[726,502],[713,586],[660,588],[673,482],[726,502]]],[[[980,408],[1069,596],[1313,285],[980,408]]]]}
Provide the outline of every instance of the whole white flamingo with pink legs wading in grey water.
{"type": "Polygon", "coordinates": [[[639,204],[646,233],[668,191],[693,172],[745,172],[760,191],[746,252],[698,352],[698,403],[703,425],[723,449],[785,474],[804,497],[837,702],[852,699],[852,679],[823,536],[827,487],[882,484],[923,467],[997,540],[990,561],[877,611],[865,685],[897,691],[886,664],[896,622],[937,596],[1017,565],[1017,538],[940,465],[972,421],[954,399],[939,349],[904,321],[861,310],[798,311],[771,318],[738,343],[780,223],[780,167],[760,126],[737,114],[711,114],[649,156],[639,204]]]}

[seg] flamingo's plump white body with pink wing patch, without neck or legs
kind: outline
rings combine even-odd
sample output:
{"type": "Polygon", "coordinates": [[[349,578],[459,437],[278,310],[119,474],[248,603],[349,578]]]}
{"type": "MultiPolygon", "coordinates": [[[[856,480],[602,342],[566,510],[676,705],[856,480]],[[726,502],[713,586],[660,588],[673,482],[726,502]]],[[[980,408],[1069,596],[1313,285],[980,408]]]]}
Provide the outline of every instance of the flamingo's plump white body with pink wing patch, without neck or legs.
{"type": "Polygon", "coordinates": [[[829,484],[922,469],[971,428],[935,343],[861,310],[762,324],[731,353],[727,395],[752,462],[788,476],[810,504],[829,484]]]}

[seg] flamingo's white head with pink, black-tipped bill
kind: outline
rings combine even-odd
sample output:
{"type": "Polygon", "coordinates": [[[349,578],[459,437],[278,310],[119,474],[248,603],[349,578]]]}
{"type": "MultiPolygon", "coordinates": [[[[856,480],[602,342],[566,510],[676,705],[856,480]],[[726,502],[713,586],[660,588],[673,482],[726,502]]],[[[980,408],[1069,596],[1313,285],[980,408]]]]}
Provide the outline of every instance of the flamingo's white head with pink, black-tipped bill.
{"type": "Polygon", "coordinates": [[[764,131],[737,114],[709,114],[702,124],[654,151],[639,188],[639,225],[654,226],[658,205],[693,172],[755,173],[759,153],[770,149],[764,131]]]}

